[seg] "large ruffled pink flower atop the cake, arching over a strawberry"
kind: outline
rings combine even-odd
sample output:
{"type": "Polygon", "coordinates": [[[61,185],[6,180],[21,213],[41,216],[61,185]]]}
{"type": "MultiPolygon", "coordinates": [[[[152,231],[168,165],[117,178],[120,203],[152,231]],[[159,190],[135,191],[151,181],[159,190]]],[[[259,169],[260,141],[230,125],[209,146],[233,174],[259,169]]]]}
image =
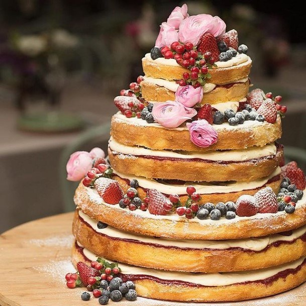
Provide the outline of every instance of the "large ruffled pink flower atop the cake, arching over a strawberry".
{"type": "Polygon", "coordinates": [[[190,42],[196,46],[205,33],[211,33],[215,37],[225,33],[226,24],[218,16],[208,14],[190,16],[179,25],[179,41],[190,42]]]}

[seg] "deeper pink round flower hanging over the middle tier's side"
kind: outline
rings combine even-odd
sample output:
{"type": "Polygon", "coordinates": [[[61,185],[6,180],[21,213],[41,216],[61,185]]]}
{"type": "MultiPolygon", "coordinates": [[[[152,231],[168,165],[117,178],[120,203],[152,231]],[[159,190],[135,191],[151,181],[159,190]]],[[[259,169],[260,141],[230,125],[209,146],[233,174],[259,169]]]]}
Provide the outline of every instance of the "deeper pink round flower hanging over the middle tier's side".
{"type": "Polygon", "coordinates": [[[201,148],[207,148],[218,141],[218,134],[205,119],[192,121],[186,124],[190,140],[201,148]]]}

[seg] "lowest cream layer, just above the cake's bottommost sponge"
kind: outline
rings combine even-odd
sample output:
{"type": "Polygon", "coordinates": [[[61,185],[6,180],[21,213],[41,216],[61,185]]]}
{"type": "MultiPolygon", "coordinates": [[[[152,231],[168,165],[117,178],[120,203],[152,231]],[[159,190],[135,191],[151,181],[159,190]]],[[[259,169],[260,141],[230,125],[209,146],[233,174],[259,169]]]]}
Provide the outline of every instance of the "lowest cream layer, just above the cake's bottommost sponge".
{"type": "MultiPolygon", "coordinates": [[[[96,260],[97,256],[87,249],[83,249],[84,256],[90,261],[96,260]]],[[[187,273],[155,270],[120,263],[123,274],[149,275],[164,280],[180,280],[203,286],[227,286],[246,281],[264,280],[287,269],[295,269],[302,264],[306,257],[271,268],[228,273],[187,273]]]]}

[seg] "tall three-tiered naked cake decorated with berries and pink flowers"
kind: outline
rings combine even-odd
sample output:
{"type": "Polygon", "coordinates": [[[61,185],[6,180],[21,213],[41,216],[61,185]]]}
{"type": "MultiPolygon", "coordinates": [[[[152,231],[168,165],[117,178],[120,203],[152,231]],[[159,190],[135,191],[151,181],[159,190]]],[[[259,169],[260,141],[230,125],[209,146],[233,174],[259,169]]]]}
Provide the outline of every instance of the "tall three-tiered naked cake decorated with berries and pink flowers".
{"type": "Polygon", "coordinates": [[[115,98],[110,166],[91,154],[76,189],[75,264],[119,262],[138,295],[175,301],[306,280],[305,177],[275,142],[281,97],[248,93],[246,53],[235,30],[186,5],[161,25],[145,76],[115,98]]]}

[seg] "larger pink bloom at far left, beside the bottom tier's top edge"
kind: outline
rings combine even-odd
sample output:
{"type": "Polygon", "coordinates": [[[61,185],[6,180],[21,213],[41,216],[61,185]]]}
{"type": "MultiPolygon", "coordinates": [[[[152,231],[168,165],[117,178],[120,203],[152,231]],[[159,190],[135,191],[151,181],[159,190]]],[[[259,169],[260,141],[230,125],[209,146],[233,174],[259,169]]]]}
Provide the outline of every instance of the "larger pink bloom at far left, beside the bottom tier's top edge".
{"type": "Polygon", "coordinates": [[[66,165],[67,179],[81,180],[92,167],[92,158],[86,151],[77,151],[70,155],[66,165]]]}

